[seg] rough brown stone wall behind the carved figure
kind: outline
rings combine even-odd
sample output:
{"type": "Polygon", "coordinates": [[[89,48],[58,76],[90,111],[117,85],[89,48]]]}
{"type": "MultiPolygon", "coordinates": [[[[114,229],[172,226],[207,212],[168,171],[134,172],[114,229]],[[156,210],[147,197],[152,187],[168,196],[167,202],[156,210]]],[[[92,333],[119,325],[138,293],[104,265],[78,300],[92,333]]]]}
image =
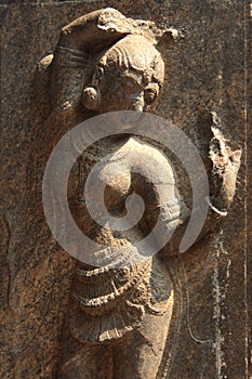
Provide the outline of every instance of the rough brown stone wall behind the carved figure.
{"type": "Polygon", "coordinates": [[[250,6],[242,0],[1,1],[0,377],[55,375],[70,259],[52,240],[40,199],[29,195],[36,135],[47,110],[35,96],[35,74],[63,26],[104,6],[184,34],[163,51],[168,78],[157,114],[203,152],[214,112],[233,149],[243,152],[228,217],[181,257],[181,326],[167,378],[250,378],[251,49],[250,6]]]}

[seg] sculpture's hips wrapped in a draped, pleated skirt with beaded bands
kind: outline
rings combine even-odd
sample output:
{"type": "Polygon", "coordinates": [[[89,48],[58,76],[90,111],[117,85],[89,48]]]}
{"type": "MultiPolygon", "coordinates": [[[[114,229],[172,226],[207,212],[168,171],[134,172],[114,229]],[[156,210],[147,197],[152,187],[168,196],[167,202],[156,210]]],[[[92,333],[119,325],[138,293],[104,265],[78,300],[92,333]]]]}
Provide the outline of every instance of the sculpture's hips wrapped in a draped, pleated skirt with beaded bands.
{"type": "Polygon", "coordinates": [[[81,341],[121,338],[146,313],[163,314],[172,301],[165,267],[155,258],[133,267],[77,267],[69,306],[69,329],[81,341]]]}

